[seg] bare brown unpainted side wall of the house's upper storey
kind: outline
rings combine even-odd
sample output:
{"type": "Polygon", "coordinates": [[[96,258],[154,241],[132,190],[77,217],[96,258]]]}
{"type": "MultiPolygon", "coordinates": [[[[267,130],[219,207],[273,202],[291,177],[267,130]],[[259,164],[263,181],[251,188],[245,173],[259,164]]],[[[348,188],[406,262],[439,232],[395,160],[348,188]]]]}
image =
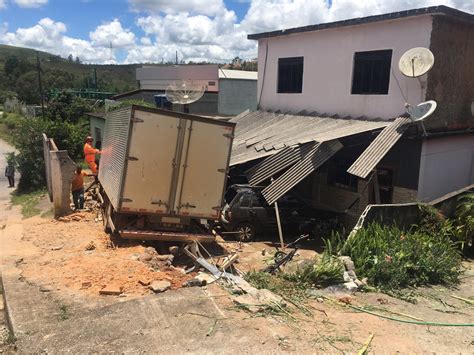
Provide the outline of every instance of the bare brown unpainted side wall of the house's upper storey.
{"type": "Polygon", "coordinates": [[[427,99],[436,100],[435,113],[426,120],[428,130],[474,126],[474,24],[435,16],[430,49],[435,64],[428,73],[427,99]]]}

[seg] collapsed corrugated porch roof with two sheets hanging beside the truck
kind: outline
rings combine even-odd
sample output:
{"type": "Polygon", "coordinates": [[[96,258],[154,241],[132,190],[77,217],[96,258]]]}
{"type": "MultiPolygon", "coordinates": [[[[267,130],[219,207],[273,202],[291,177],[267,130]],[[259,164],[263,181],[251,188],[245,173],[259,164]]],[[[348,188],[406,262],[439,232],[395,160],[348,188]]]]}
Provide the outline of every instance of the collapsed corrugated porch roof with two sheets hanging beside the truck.
{"type": "Polygon", "coordinates": [[[336,154],[343,147],[338,138],[398,124],[398,121],[268,111],[243,112],[231,121],[237,125],[230,165],[266,157],[247,170],[251,185],[256,186],[288,168],[262,191],[269,204],[336,154]]]}

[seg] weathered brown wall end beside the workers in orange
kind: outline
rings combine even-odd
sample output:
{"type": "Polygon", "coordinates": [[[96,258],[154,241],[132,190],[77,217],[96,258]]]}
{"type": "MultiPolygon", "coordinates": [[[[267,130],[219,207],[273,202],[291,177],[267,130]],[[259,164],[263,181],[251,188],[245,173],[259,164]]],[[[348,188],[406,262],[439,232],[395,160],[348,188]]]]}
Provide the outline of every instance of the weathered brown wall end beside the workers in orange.
{"type": "Polygon", "coordinates": [[[50,151],[50,159],[54,216],[60,217],[71,211],[71,181],[76,164],[69,157],[67,150],[50,151]]]}

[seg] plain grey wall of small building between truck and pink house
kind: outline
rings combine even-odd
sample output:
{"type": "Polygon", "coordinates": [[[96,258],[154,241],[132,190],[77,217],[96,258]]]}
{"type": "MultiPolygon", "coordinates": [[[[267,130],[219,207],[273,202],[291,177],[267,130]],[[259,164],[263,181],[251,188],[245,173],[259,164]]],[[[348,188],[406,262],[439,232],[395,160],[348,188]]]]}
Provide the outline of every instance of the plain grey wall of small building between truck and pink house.
{"type": "Polygon", "coordinates": [[[220,79],[217,111],[223,115],[238,115],[247,109],[257,109],[257,81],[220,79]]]}

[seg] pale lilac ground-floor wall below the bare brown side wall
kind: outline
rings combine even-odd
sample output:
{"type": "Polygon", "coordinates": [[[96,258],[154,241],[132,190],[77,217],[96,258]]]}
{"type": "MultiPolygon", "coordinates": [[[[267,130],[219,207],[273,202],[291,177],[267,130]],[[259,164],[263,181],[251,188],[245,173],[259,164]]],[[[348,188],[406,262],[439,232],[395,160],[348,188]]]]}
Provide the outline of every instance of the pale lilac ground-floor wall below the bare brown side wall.
{"type": "Polygon", "coordinates": [[[423,142],[418,199],[431,201],[474,183],[474,134],[423,142]]]}

